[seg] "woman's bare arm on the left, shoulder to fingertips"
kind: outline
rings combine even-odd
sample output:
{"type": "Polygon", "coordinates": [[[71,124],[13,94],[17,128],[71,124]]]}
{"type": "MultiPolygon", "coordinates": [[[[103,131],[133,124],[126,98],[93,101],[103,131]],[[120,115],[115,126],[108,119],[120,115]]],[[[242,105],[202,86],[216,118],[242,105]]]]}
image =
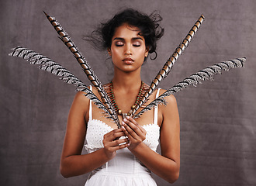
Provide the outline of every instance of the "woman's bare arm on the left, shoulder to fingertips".
{"type": "Polygon", "coordinates": [[[78,176],[88,173],[102,166],[116,155],[116,150],[128,145],[120,145],[124,140],[115,140],[116,137],[124,136],[122,129],[112,130],[104,136],[104,148],[93,153],[81,155],[85,142],[86,122],[88,118],[89,99],[82,92],[74,98],[67,119],[67,131],[61,154],[61,174],[64,177],[78,176]]]}

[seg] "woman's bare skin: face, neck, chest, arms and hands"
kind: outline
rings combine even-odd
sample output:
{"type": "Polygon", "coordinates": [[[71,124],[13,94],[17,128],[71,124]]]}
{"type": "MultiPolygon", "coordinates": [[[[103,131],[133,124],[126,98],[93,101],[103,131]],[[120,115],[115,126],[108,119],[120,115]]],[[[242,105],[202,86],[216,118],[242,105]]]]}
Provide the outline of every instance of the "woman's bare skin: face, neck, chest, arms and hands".
{"type": "MultiPolygon", "coordinates": [[[[112,37],[112,45],[109,55],[114,65],[114,77],[112,79],[115,90],[116,102],[123,112],[129,112],[130,106],[134,104],[140,89],[140,70],[147,57],[148,48],[145,46],[143,36],[139,29],[126,23],[116,28],[112,37]]],[[[95,95],[97,91],[93,89],[95,95]]],[[[164,90],[161,90],[162,94],[164,90]]],[[[152,101],[155,92],[150,96],[152,101]]],[[[116,129],[114,123],[104,121],[112,127],[112,131],[106,133],[103,139],[104,148],[94,153],[81,155],[85,141],[86,122],[88,122],[89,100],[83,93],[78,92],[71,105],[67,121],[67,131],[61,155],[61,174],[64,177],[72,177],[88,173],[106,164],[116,156],[116,151],[128,148],[150,171],[153,171],[164,180],[173,183],[178,179],[180,168],[180,126],[176,99],[173,95],[166,98],[167,105],[158,106],[157,123],[161,127],[160,143],[161,155],[155,153],[146,146],[143,141],[146,138],[144,125],[152,123],[153,112],[142,115],[140,119],[134,120],[127,117],[119,117],[122,128],[116,129]],[[127,139],[118,140],[120,136],[127,139]],[[125,143],[123,145],[119,145],[125,143]]],[[[93,105],[93,118],[102,119],[99,108],[93,105]]]]}

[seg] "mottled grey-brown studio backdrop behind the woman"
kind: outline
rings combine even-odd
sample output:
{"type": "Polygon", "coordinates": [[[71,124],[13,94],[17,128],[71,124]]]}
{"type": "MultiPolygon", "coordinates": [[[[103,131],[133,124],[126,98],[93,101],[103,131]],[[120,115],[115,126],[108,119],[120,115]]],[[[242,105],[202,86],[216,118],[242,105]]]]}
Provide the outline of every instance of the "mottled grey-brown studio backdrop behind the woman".
{"type": "MultiPolygon", "coordinates": [[[[43,15],[54,15],[84,53],[102,83],[111,80],[106,53],[81,40],[119,9],[158,10],[165,29],[157,60],[142,77],[150,83],[169,55],[203,14],[206,17],[185,53],[161,83],[169,88],[204,67],[247,57],[246,67],[218,75],[176,95],[181,117],[181,172],[173,185],[256,185],[255,19],[256,2],[234,1],[0,1],[0,185],[83,185],[87,175],[59,173],[74,86],[39,71],[10,48],[29,47],[56,60],[89,84],[74,57],[43,15]]],[[[84,152],[85,153],[85,152],[84,152]]],[[[159,185],[168,185],[156,177],[159,185]]]]}

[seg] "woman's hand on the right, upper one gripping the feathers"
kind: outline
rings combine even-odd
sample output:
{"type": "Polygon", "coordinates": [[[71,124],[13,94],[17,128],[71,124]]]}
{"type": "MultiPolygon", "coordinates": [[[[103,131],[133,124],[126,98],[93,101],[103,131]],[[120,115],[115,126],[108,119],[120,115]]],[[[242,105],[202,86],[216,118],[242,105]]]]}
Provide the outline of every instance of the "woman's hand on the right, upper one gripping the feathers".
{"type": "Polygon", "coordinates": [[[132,150],[146,139],[146,130],[133,118],[127,116],[122,122],[123,133],[130,141],[129,149],[132,150]]]}

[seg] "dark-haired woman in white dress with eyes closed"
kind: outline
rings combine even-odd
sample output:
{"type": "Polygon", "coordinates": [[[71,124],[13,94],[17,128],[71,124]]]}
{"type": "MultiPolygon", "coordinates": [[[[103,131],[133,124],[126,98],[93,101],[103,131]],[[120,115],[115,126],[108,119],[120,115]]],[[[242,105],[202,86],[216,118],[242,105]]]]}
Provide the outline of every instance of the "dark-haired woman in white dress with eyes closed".
{"type": "MultiPolygon", "coordinates": [[[[122,116],[137,104],[141,92],[147,91],[140,70],[148,54],[155,53],[156,41],[163,35],[159,21],[160,15],[147,16],[126,9],[96,32],[102,33],[102,46],[112,58],[114,76],[105,88],[119,113],[122,128],[117,129],[114,122],[78,92],[71,105],[61,155],[64,177],[92,171],[85,185],[156,185],[150,171],[171,183],[178,179],[180,141],[175,97],[168,96],[167,105],[159,105],[139,119],[122,116]],[[81,155],[85,140],[88,154],[81,155]],[[161,155],[155,152],[158,140],[161,155]]],[[[95,88],[91,89],[99,96],[95,88]]],[[[163,92],[154,91],[147,104],[163,92]]]]}

